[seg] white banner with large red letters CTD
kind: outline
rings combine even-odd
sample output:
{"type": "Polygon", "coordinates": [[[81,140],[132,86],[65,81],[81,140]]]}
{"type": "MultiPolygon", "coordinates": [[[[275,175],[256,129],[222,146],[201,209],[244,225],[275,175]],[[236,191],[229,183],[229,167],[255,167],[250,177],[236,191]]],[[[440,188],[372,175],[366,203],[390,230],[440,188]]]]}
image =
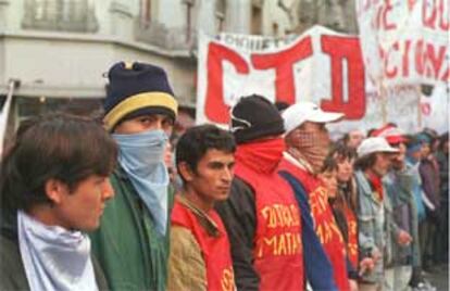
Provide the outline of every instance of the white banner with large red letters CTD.
{"type": "MultiPolygon", "coordinates": [[[[337,136],[352,128],[379,127],[383,114],[408,131],[427,118],[418,114],[417,86],[387,91],[391,98],[385,104],[376,91],[366,79],[355,36],[321,26],[286,39],[199,36],[197,124],[226,126],[230,106],[252,93],[289,104],[312,101],[323,110],[342,112],[346,121],[330,125],[337,136]]],[[[446,118],[434,127],[447,128],[446,118]]]]}

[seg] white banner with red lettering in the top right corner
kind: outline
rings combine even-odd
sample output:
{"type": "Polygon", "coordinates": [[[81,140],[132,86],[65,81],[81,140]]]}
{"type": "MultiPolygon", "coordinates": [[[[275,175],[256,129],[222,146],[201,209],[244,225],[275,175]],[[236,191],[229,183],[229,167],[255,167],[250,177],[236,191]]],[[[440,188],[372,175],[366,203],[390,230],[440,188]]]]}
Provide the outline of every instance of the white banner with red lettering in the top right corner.
{"type": "Polygon", "coordinates": [[[374,84],[450,81],[450,0],[357,0],[357,14],[374,84]]]}

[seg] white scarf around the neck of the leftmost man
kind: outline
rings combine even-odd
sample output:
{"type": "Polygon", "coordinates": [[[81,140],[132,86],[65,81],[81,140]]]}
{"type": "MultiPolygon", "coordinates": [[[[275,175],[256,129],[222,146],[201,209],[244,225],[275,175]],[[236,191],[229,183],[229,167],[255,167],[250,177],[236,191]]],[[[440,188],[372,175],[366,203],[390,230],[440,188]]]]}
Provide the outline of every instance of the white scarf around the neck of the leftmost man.
{"type": "Polygon", "coordinates": [[[17,230],[32,291],[98,290],[86,235],[43,225],[22,211],[17,230]]]}

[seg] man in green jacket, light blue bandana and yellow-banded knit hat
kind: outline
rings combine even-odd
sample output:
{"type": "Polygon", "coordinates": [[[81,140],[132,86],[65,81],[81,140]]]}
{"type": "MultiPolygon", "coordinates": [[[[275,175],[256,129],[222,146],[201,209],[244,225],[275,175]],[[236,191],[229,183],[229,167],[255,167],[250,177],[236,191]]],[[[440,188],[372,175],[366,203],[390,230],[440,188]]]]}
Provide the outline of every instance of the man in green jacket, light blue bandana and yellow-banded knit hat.
{"type": "Polygon", "coordinates": [[[103,123],[120,149],[116,195],[92,251],[112,290],[165,290],[173,191],[164,151],[178,104],[161,67],[121,62],[108,76],[103,123]]]}

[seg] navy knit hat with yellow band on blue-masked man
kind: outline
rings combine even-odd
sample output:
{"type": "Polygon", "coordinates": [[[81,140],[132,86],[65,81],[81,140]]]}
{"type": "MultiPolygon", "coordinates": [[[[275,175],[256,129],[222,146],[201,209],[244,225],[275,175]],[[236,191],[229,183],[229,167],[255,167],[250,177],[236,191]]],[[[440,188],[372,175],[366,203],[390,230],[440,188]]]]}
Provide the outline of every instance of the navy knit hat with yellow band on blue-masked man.
{"type": "Polygon", "coordinates": [[[176,118],[178,103],[161,67],[120,62],[110,68],[108,78],[110,84],[103,103],[108,130],[120,122],[145,114],[166,114],[176,118]]]}

